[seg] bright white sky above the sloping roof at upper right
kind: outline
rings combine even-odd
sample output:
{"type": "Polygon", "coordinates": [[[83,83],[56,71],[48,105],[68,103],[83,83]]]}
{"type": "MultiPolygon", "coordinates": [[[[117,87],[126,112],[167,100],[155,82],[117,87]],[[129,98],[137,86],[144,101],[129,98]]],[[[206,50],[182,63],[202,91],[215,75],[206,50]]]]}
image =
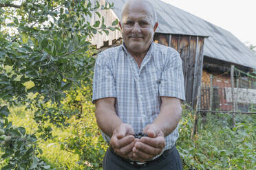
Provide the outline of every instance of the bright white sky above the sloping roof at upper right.
{"type": "Polygon", "coordinates": [[[162,0],[256,45],[256,0],[162,0]]]}

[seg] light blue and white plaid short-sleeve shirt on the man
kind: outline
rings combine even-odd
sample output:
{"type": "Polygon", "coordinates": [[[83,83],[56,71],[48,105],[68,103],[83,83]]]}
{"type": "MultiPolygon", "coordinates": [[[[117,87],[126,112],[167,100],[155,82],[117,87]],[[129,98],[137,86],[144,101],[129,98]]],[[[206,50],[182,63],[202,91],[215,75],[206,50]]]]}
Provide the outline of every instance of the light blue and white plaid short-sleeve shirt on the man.
{"type": "MultiPolygon", "coordinates": [[[[156,119],[161,96],[185,99],[182,60],[175,49],[152,42],[140,68],[124,44],[98,54],[92,101],[115,97],[116,114],[134,132],[142,132],[156,119]]],[[[164,150],[173,147],[178,136],[177,127],[165,137],[164,150]]]]}

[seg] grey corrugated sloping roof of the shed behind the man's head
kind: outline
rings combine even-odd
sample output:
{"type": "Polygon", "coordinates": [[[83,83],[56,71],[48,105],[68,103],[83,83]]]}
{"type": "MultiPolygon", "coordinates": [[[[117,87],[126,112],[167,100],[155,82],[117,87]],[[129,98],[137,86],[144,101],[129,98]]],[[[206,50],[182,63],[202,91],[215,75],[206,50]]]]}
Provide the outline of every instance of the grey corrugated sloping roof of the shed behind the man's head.
{"type": "MultiPolygon", "coordinates": [[[[114,12],[120,19],[122,6],[126,0],[107,0],[114,3],[114,12]]],[[[224,60],[250,68],[256,68],[256,55],[240,42],[231,32],[200,19],[189,12],[175,8],[160,0],[151,0],[158,16],[156,32],[209,36],[204,41],[204,56],[224,60]]]]}

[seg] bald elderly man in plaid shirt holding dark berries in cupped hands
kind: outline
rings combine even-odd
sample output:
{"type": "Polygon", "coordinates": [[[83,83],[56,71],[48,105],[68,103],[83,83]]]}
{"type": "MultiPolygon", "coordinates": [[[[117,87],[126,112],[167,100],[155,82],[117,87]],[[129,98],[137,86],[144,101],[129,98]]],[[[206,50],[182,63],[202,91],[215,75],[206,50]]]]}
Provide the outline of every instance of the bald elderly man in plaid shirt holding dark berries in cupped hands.
{"type": "Polygon", "coordinates": [[[127,1],[119,25],[123,44],[99,53],[94,70],[96,119],[110,143],[103,169],[182,169],[175,148],[184,100],[179,53],[153,42],[158,23],[149,1],[127,1]]]}

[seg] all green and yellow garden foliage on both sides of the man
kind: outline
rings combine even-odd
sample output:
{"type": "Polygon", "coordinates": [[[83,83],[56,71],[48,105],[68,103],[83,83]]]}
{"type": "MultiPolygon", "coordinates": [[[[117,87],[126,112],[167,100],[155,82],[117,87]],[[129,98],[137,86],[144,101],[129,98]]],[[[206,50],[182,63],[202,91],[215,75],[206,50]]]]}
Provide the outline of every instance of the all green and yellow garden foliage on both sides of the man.
{"type": "MultiPolygon", "coordinates": [[[[102,169],[108,147],[94,117],[89,38],[118,29],[85,0],[0,1],[0,167],[102,169]],[[100,18],[90,23],[92,12],[100,18]]],[[[184,169],[255,169],[255,115],[207,114],[191,138],[184,107],[176,144],[184,169]]]]}

